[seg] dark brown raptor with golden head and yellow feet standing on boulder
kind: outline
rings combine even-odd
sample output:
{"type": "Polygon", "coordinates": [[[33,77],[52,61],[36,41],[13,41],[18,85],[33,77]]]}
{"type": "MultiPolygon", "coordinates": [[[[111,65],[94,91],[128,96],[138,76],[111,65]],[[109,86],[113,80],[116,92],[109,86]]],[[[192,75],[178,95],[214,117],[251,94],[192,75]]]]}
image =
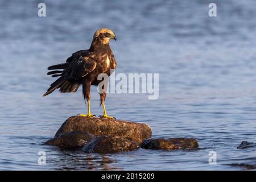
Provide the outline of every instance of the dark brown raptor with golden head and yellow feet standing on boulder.
{"type": "MultiPolygon", "coordinates": [[[[112,30],[101,28],[94,33],[92,44],[89,49],[77,51],[72,54],[63,64],[52,65],[49,70],[63,69],[62,71],[51,71],[47,75],[59,77],[51,84],[47,92],[43,96],[47,96],[55,89],[59,89],[61,93],[76,92],[82,84],[82,92],[84,99],[88,102],[88,114],[80,114],[85,117],[93,117],[90,113],[90,85],[98,85],[101,81],[97,80],[100,73],[110,75],[110,69],[115,69],[117,63],[109,46],[109,40],[117,40],[112,30]],[[57,73],[57,74],[56,74],[57,73]]],[[[102,118],[110,118],[105,110],[106,93],[100,94],[101,104],[104,114],[102,118]]]]}

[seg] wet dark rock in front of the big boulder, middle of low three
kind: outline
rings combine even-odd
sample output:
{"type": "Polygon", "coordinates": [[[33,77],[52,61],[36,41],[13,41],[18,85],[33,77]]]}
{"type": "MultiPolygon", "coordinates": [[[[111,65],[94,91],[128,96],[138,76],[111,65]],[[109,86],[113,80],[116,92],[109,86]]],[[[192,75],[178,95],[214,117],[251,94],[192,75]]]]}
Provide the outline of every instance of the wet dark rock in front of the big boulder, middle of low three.
{"type": "Polygon", "coordinates": [[[102,135],[92,139],[82,151],[86,153],[112,153],[121,151],[131,151],[139,148],[139,145],[131,140],[122,137],[110,137],[102,135]]]}

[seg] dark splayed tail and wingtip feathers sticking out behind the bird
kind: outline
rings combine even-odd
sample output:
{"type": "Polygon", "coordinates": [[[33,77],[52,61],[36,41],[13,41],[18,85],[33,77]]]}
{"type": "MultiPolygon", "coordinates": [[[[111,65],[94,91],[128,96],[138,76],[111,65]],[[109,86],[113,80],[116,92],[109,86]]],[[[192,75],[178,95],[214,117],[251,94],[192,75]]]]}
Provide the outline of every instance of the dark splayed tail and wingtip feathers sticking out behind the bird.
{"type": "MultiPolygon", "coordinates": [[[[68,66],[68,63],[57,64],[57,65],[53,65],[53,66],[49,67],[48,69],[49,70],[65,69],[65,68],[67,68],[67,66],[68,66]]],[[[43,97],[47,96],[48,94],[52,93],[55,89],[59,89],[59,88],[60,88],[61,93],[76,92],[76,90],[79,88],[80,84],[77,84],[75,82],[65,79],[63,77],[62,73],[63,73],[63,71],[57,71],[57,70],[47,73],[47,75],[52,75],[52,77],[58,77],[58,76],[60,76],[60,77],[50,85],[47,92],[43,94],[43,97]],[[56,73],[60,73],[60,74],[56,74],[56,73]]]]}

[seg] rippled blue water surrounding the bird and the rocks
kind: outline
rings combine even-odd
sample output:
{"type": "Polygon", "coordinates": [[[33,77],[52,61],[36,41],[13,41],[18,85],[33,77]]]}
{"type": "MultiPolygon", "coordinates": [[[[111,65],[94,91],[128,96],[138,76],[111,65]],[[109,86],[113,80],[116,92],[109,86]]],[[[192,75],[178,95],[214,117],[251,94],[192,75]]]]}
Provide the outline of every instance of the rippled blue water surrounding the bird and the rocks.
{"type": "MultiPolygon", "coordinates": [[[[44,1],[0,3],[0,169],[234,169],[256,163],[256,2],[44,1]],[[201,150],[118,154],[63,151],[43,142],[72,115],[86,113],[81,89],[42,97],[53,81],[47,67],[89,48],[97,28],[112,28],[117,73],[159,73],[159,98],[108,94],[106,109],[118,119],[147,122],[153,137],[193,137],[201,150]],[[47,154],[38,164],[38,152],[47,154]],[[209,151],[217,164],[209,165],[209,151]]],[[[100,115],[92,88],[92,113],[100,115]]]]}

